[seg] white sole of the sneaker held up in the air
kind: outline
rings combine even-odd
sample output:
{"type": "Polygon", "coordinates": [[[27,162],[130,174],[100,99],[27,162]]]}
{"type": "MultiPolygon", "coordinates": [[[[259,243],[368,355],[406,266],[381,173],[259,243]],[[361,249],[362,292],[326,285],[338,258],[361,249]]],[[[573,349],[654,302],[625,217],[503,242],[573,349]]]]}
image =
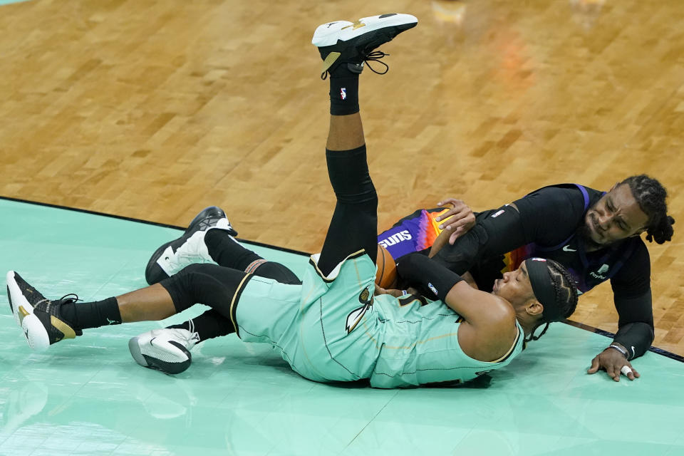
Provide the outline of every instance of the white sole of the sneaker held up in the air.
{"type": "MultiPolygon", "coordinates": [[[[347,24],[346,26],[353,25],[353,23],[348,21],[337,22],[347,24]]],[[[328,24],[331,24],[330,22],[320,25],[316,28],[316,31],[314,31],[314,38],[311,39],[311,43],[318,48],[333,46],[338,43],[338,41],[350,41],[353,38],[365,35],[366,33],[382,31],[383,28],[393,29],[390,30],[390,32],[396,31],[393,35],[390,34],[390,39],[388,40],[390,41],[399,33],[415,27],[415,25],[418,24],[418,19],[410,14],[381,14],[380,16],[364,17],[357,22],[361,22],[365,25],[358,28],[351,27],[347,30],[339,30],[337,28],[330,29],[328,28],[328,24]]]]}

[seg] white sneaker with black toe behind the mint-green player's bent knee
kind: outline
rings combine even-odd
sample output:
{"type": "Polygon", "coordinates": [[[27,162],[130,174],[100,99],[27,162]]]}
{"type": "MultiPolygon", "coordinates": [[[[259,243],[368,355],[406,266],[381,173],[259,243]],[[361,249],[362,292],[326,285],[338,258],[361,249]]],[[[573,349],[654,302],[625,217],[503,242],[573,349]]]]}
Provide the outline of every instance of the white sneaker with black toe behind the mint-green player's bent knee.
{"type": "Polygon", "coordinates": [[[176,274],[185,266],[195,263],[215,263],[209,255],[207,245],[204,244],[204,235],[209,229],[224,229],[231,236],[237,236],[226,217],[226,213],[216,206],[202,209],[192,219],[185,233],[178,239],[162,244],[145,268],[145,280],[152,285],[176,274]]]}

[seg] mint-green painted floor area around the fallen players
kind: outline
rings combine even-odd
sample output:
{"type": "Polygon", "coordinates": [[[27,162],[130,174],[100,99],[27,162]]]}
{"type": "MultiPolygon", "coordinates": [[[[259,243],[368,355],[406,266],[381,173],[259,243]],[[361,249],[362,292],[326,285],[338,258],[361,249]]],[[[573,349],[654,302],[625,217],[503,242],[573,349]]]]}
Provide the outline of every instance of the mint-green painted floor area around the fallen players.
{"type": "MultiPolygon", "coordinates": [[[[6,199],[0,214],[3,274],[15,269],[50,298],[145,286],[150,254],[179,233],[6,199]]],[[[296,272],[307,261],[255,249],[296,272]]],[[[0,455],[684,454],[684,363],[647,353],[634,382],[587,375],[609,339],[573,326],[555,324],[510,366],[460,388],[313,383],[234,335],[195,347],[175,377],[130,358],[130,337],[203,310],[86,330],[34,353],[3,286],[0,455]]]]}

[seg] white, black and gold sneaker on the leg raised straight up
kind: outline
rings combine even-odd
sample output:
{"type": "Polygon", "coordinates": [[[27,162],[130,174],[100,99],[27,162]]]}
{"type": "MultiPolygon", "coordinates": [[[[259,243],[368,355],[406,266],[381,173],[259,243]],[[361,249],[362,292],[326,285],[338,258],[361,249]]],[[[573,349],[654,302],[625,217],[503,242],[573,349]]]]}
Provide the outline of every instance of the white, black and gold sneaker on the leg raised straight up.
{"type": "MultiPolygon", "coordinates": [[[[418,19],[410,14],[380,14],[380,16],[364,17],[356,22],[333,21],[316,28],[311,43],[318,47],[323,58],[321,78],[325,79],[328,73],[335,71],[340,65],[347,65],[349,71],[361,73],[363,63],[378,61],[385,53],[373,50],[381,44],[392,41],[399,33],[415,27],[418,19]]],[[[373,73],[384,74],[388,71],[375,71],[373,73]]]]}

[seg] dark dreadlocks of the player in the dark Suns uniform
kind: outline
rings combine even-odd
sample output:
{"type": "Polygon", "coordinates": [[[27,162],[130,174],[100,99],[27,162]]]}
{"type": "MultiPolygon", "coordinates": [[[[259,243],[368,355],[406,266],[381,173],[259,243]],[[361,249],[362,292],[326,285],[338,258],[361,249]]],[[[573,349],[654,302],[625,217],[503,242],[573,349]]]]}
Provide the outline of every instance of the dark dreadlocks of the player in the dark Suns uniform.
{"type": "Polygon", "coordinates": [[[646,224],[646,240],[663,244],[672,239],[674,232],[672,225],[675,219],[668,215],[668,205],[665,198],[668,196],[665,187],[645,174],[630,176],[620,182],[627,184],[632,195],[644,214],[648,217],[646,224]]]}

